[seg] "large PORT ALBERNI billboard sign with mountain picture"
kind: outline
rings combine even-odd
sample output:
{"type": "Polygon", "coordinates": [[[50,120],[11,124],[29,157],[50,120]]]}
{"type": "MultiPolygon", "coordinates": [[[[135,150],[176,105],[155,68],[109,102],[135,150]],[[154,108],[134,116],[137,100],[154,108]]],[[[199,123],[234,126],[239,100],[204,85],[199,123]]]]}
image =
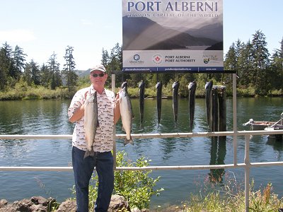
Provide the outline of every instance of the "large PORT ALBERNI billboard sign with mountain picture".
{"type": "Polygon", "coordinates": [[[222,0],[122,0],[123,71],[223,71],[222,0]]]}

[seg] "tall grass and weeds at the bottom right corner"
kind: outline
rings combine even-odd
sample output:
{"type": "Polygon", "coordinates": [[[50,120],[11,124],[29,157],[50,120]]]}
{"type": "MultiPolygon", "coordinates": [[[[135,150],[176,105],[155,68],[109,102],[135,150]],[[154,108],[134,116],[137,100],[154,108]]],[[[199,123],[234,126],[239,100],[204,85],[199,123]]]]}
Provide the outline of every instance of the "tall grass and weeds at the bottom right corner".
{"type": "MultiPolygon", "coordinates": [[[[226,176],[227,177],[227,176],[226,176]]],[[[200,183],[199,194],[191,194],[183,211],[187,212],[238,212],[245,211],[245,192],[243,185],[235,177],[227,177],[226,184],[205,181],[200,183]]],[[[254,190],[254,181],[250,183],[249,211],[270,212],[282,208],[282,199],[272,193],[272,184],[263,189],[254,190]]]]}

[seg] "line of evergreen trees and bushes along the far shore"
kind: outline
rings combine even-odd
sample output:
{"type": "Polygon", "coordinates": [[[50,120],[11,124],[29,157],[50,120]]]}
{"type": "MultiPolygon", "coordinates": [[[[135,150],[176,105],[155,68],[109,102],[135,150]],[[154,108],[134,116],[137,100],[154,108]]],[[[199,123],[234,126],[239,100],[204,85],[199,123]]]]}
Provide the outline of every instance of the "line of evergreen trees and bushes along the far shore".
{"type": "MultiPolygon", "coordinates": [[[[283,81],[283,39],[279,42],[281,46],[274,50],[270,57],[267,49],[266,37],[260,30],[256,30],[251,41],[246,43],[241,40],[233,42],[224,59],[225,70],[235,70],[239,78],[237,79],[238,95],[259,96],[259,95],[282,95],[283,81]]],[[[59,69],[57,55],[53,53],[47,61],[47,65],[38,66],[36,61],[25,64],[26,54],[21,47],[16,46],[15,50],[7,43],[0,48],[0,90],[13,88],[18,81],[24,79],[28,86],[44,86],[55,90],[63,85],[65,80],[70,93],[79,88],[89,86],[89,79],[78,79],[74,72],[75,61],[73,57],[73,47],[67,46],[64,59],[64,69],[59,69]],[[79,80],[79,82],[78,82],[79,80]]],[[[102,50],[102,64],[108,71],[122,70],[122,45],[117,43],[115,47],[102,50]]],[[[110,73],[108,73],[110,75],[110,73]]],[[[204,85],[207,81],[213,80],[214,85],[221,85],[226,82],[226,95],[232,95],[232,83],[230,74],[221,73],[122,73],[116,76],[116,86],[121,85],[127,79],[129,88],[137,88],[139,81],[146,83],[146,97],[155,96],[155,85],[157,81],[163,83],[163,95],[170,97],[171,86],[174,81],[180,81],[179,95],[186,98],[188,95],[187,85],[192,81],[197,81],[196,96],[204,96],[204,85]],[[228,83],[227,83],[228,82],[228,83]]],[[[119,87],[117,86],[117,87],[119,87]]],[[[106,87],[111,87],[111,78],[108,77],[106,87]]],[[[137,93],[130,93],[132,98],[137,97],[137,93]]],[[[4,99],[21,99],[17,93],[2,94],[4,99]]],[[[24,94],[25,96],[25,94],[24,94]]],[[[30,98],[33,97],[30,94],[30,98]]]]}

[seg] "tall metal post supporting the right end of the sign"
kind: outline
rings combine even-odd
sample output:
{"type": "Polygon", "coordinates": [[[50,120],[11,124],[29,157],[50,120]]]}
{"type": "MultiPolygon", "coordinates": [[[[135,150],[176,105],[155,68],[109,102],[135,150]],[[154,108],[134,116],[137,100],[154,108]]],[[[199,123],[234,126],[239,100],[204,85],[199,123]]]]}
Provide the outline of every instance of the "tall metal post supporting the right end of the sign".
{"type": "Polygon", "coordinates": [[[237,82],[236,73],[233,73],[233,150],[234,150],[234,165],[237,165],[237,82]]]}

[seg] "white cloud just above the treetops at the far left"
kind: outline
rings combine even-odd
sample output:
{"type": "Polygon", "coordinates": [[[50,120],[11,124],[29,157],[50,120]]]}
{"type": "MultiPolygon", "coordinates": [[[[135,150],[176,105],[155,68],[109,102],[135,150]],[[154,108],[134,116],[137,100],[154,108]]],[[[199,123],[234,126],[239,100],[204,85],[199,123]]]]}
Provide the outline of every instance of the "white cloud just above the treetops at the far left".
{"type": "Polygon", "coordinates": [[[2,30],[0,31],[1,42],[28,42],[35,40],[35,35],[30,30],[2,30]]]}

